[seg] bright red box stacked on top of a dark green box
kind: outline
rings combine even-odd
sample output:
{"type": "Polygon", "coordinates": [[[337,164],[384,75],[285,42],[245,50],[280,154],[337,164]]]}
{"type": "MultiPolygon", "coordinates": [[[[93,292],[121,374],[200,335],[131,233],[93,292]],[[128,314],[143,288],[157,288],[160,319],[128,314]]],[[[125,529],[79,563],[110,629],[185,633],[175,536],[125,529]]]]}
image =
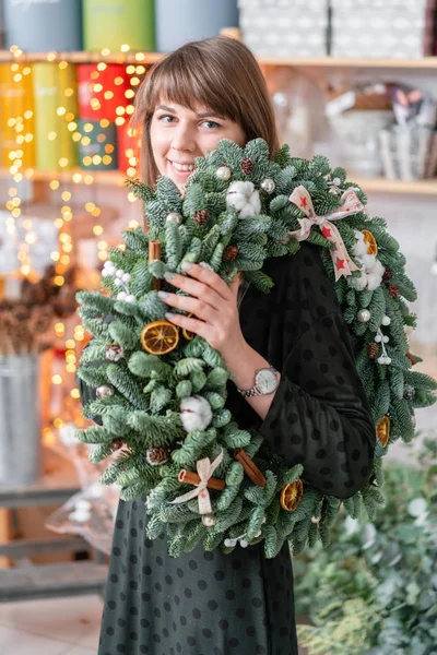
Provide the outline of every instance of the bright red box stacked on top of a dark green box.
{"type": "Polygon", "coordinates": [[[106,119],[115,122],[131,100],[126,67],[119,63],[81,63],[78,66],[79,116],[84,120],[106,119]],[[103,69],[103,70],[102,70],[103,69]]]}

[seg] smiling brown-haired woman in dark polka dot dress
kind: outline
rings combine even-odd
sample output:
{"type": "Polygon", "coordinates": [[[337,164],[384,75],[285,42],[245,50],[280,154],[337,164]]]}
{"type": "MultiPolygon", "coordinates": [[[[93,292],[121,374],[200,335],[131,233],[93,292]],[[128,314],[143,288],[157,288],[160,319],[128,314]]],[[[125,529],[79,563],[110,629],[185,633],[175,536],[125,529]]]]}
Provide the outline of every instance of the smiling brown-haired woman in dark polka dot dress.
{"type": "MultiPolygon", "coordinates": [[[[170,177],[184,193],[194,159],[228,138],[261,136],[277,151],[274,116],[258,63],[236,40],[191,43],[161,60],[137,97],[143,178],[170,177]]],[[[257,428],[306,479],[341,499],[371,469],[375,427],[341,308],[318,250],[268,258],[270,294],[192,265],[168,282],[168,320],[203,336],[235,376],[227,407],[257,428]],[[197,318],[172,314],[172,307],[197,318]],[[258,369],[273,366],[274,391],[243,396],[258,369]]],[[[82,389],[83,400],[93,396],[82,389]]],[[[262,544],[232,555],[201,546],[177,559],[164,535],[144,537],[142,501],[120,501],[98,655],[297,655],[288,546],[273,560],[262,544]]]]}

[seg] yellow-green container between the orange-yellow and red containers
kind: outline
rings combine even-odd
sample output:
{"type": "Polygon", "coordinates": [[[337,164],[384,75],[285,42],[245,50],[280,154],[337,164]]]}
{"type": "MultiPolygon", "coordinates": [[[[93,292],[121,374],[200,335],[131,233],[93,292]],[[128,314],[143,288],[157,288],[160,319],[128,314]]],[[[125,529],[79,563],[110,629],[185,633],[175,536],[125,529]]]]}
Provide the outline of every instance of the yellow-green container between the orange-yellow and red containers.
{"type": "Polygon", "coordinates": [[[78,117],[75,67],[34,63],[36,168],[69,170],[78,166],[78,146],[72,139],[78,117]]]}

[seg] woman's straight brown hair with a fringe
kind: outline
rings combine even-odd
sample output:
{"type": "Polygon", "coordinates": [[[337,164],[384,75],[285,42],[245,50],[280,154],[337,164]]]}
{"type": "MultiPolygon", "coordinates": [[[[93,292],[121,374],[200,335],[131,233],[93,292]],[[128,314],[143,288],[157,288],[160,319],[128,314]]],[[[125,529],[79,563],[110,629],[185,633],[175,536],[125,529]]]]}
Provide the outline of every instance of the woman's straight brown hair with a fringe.
{"type": "Polygon", "coordinates": [[[198,102],[237,122],[246,142],[267,141],[271,157],[280,147],[265,81],[249,48],[227,36],[192,41],[154,64],[137,94],[132,123],[142,131],[141,171],[150,187],[158,177],[150,126],[161,98],[192,110],[198,102]]]}

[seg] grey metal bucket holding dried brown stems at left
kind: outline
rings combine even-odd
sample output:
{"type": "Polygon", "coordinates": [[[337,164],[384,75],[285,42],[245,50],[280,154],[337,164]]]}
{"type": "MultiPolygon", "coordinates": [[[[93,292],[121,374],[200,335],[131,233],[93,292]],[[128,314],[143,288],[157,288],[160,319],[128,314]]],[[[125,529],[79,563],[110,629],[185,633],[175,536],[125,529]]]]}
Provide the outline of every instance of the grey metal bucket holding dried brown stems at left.
{"type": "Polygon", "coordinates": [[[42,473],[36,355],[0,357],[0,484],[31,485],[42,473]]]}

